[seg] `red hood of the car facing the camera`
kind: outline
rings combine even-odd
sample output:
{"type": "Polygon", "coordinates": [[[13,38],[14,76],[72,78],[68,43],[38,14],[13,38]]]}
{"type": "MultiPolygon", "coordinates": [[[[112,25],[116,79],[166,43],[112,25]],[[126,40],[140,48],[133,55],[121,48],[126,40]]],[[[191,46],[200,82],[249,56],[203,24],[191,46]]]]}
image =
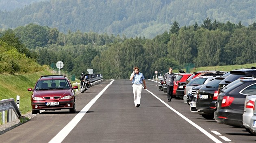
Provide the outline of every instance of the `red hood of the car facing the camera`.
{"type": "Polygon", "coordinates": [[[59,90],[37,90],[34,91],[35,97],[49,97],[49,96],[63,96],[69,95],[70,89],[59,89],[59,90]]]}

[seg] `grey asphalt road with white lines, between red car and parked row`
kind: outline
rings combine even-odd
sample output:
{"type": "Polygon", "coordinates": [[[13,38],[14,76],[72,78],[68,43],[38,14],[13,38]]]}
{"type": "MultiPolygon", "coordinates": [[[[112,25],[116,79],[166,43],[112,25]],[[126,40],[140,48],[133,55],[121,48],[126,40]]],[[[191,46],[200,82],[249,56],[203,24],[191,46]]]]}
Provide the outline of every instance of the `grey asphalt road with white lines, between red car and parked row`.
{"type": "MultiPolygon", "coordinates": [[[[76,113],[43,111],[0,135],[1,143],[255,143],[256,136],[206,120],[183,100],[167,100],[146,80],[134,107],[129,80],[104,80],[76,95],[76,113]]],[[[78,91],[79,92],[79,91],[78,91]]]]}

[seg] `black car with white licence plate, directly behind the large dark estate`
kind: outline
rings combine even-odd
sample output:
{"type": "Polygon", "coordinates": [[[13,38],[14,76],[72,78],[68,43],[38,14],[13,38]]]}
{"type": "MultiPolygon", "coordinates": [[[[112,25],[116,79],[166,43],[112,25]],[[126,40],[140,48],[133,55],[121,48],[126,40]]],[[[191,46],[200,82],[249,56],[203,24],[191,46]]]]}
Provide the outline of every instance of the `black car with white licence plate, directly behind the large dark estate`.
{"type": "MultiPolygon", "coordinates": [[[[205,119],[213,119],[214,112],[216,111],[215,104],[218,98],[219,83],[225,79],[225,77],[217,77],[214,80],[204,84],[198,90],[196,109],[199,114],[205,119]]],[[[196,86],[197,87],[197,86],[196,86]]],[[[193,89],[192,89],[193,90],[193,89]]]]}

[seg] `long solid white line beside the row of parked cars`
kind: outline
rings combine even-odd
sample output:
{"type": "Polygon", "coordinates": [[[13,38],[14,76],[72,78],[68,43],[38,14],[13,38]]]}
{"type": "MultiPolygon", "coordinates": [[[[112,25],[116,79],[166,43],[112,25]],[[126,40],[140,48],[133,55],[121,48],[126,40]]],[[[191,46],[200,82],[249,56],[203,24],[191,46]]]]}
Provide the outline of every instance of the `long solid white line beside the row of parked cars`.
{"type": "Polygon", "coordinates": [[[198,126],[197,124],[195,124],[194,122],[192,122],[191,120],[189,120],[187,117],[185,117],[184,115],[180,114],[180,112],[176,111],[174,108],[172,108],[170,105],[168,105],[167,103],[165,103],[163,100],[161,100],[159,97],[157,97],[156,95],[154,95],[154,93],[150,92],[148,89],[146,89],[150,94],[152,94],[154,97],[156,97],[159,101],[161,101],[163,104],[165,104],[169,109],[171,109],[172,111],[174,111],[176,114],[178,114],[181,118],[183,118],[184,120],[186,120],[187,122],[189,122],[191,125],[193,125],[195,128],[197,128],[198,130],[200,130],[202,133],[204,133],[204,135],[206,135],[207,137],[209,137],[211,140],[213,140],[215,143],[222,143],[221,141],[219,141],[216,137],[214,137],[213,135],[211,135],[209,132],[207,132],[206,130],[204,130],[203,128],[201,128],[200,126],[198,126]]]}

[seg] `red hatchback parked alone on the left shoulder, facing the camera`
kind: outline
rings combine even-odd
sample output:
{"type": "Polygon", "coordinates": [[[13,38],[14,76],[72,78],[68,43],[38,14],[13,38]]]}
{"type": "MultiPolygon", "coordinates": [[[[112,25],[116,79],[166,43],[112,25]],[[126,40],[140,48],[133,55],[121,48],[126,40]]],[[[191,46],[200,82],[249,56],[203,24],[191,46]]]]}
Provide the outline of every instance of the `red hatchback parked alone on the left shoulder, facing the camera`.
{"type": "Polygon", "coordinates": [[[31,96],[32,114],[39,113],[39,110],[69,109],[70,113],[76,112],[74,89],[66,76],[50,75],[41,76],[31,96]]]}

